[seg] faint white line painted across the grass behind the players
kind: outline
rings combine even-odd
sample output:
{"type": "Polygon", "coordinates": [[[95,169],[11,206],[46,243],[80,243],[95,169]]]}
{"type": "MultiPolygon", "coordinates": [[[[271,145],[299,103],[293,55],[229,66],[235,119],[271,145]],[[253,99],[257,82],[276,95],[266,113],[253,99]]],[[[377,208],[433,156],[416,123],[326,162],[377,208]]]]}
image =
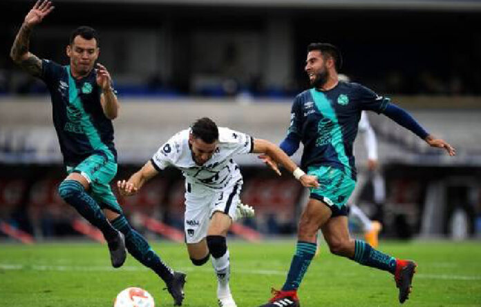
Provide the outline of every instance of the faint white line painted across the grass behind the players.
{"type": "MultiPolygon", "coordinates": [[[[115,270],[126,270],[129,272],[138,271],[148,271],[150,269],[139,267],[139,266],[122,266],[120,269],[112,268],[111,266],[39,266],[39,265],[23,265],[23,264],[0,264],[0,270],[39,270],[39,271],[77,271],[77,272],[105,272],[105,271],[115,271],[115,270]]],[[[201,272],[212,272],[211,268],[194,268],[194,267],[183,267],[179,270],[185,272],[201,271],[201,272]]],[[[252,275],[283,275],[285,276],[287,272],[283,270],[245,270],[245,269],[234,269],[235,273],[241,274],[252,274],[252,275]]],[[[342,276],[352,274],[339,274],[342,276]]],[[[416,274],[416,279],[444,279],[444,280],[481,280],[481,276],[467,276],[467,275],[447,275],[447,274],[416,274]]]]}

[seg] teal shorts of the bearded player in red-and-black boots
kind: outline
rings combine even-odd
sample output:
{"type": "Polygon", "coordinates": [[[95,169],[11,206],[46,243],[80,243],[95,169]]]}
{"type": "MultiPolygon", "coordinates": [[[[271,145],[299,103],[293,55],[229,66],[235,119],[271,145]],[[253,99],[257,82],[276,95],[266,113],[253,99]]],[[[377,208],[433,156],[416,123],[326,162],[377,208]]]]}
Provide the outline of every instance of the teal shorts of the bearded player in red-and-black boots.
{"type": "Polygon", "coordinates": [[[356,181],[332,166],[310,166],[308,174],[317,176],[320,185],[319,188],[310,188],[310,198],[328,205],[332,217],[348,215],[346,202],[356,186],[356,181]]]}

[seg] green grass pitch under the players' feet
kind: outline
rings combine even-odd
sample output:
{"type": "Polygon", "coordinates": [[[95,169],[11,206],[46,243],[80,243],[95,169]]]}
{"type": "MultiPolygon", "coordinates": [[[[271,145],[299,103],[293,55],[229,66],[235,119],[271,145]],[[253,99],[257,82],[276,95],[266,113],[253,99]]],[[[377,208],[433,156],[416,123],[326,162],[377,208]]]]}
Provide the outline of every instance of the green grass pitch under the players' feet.
{"type": "MultiPolygon", "coordinates": [[[[153,248],[173,268],[187,273],[184,306],[212,307],[216,279],[211,264],[194,267],[185,246],[157,242],[153,248]]],[[[279,288],[290,264],[294,239],[249,244],[231,241],[231,288],[239,307],[255,307],[279,288]]],[[[415,259],[414,291],[404,306],[481,306],[480,242],[381,241],[381,250],[415,259]]],[[[129,256],[110,267],[106,246],[58,243],[0,245],[0,305],[14,307],[112,306],[120,290],[140,286],[156,306],[172,306],[164,284],[129,256]]],[[[321,245],[299,290],[301,306],[399,306],[393,277],[330,255],[321,245]]]]}

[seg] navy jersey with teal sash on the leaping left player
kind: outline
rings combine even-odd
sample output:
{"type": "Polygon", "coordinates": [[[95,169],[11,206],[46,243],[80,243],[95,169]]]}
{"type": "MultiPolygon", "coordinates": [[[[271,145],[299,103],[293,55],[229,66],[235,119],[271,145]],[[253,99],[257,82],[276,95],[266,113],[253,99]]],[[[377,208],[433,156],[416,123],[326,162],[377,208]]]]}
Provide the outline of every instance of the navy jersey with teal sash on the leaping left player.
{"type": "Polygon", "coordinates": [[[112,121],[104,115],[96,76],[92,70],[88,76],[75,79],[70,66],[42,60],[41,79],[50,91],[53,124],[67,166],[93,154],[108,155],[109,151],[117,160],[112,121]]]}

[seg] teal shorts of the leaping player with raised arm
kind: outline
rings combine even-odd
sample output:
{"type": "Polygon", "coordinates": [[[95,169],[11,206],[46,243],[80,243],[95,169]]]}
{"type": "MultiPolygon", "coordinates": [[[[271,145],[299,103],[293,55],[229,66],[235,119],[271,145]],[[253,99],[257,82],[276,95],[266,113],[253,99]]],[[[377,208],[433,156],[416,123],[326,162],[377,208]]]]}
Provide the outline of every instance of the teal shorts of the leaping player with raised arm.
{"type": "Polygon", "coordinates": [[[94,154],[77,166],[67,166],[67,173],[72,172],[77,172],[87,179],[90,184],[88,194],[97,201],[100,208],[122,214],[122,207],[113,195],[110,186],[110,182],[117,174],[117,163],[111,152],[107,152],[105,155],[94,154]]]}

